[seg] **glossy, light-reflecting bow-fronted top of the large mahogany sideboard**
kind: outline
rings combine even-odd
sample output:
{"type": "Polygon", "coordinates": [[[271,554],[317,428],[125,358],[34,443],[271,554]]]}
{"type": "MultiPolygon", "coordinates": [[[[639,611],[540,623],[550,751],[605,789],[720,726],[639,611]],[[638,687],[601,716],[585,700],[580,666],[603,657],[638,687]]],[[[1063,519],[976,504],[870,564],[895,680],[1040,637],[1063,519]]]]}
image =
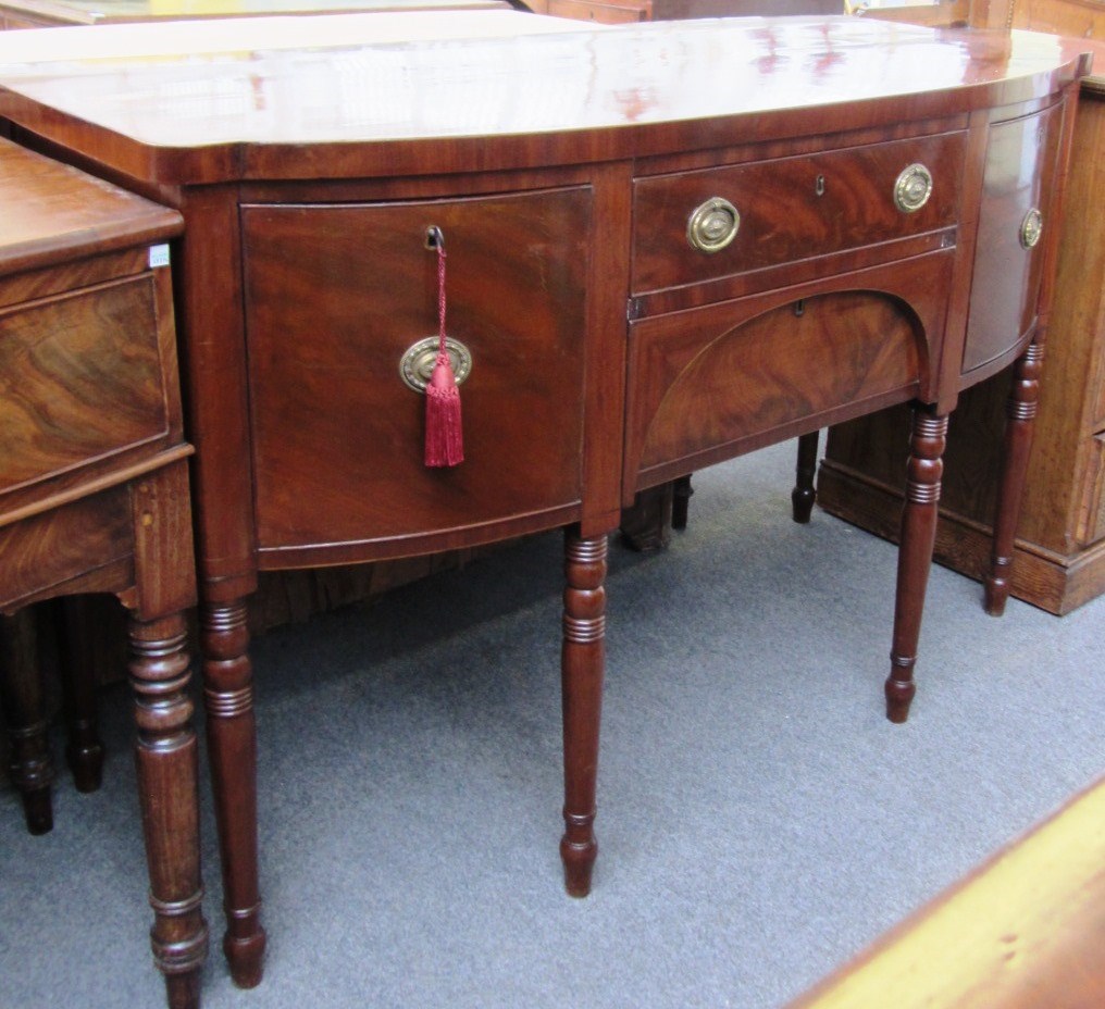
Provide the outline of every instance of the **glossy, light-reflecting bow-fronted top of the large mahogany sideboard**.
{"type": "Polygon", "coordinates": [[[1092,46],[843,17],[594,28],[469,11],[105,25],[0,36],[0,113],[161,182],[433,174],[1029,101],[1081,75],[1092,46]]]}

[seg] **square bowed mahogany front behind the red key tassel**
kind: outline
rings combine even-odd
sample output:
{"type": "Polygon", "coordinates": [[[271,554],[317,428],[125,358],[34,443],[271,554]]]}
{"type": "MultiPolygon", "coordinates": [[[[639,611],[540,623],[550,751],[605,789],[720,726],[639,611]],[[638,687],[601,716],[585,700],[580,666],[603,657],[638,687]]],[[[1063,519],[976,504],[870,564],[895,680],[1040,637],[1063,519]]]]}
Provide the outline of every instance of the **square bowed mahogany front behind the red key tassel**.
{"type": "Polygon", "coordinates": [[[590,207],[585,187],[243,207],[262,549],[464,530],[579,503],[590,207]],[[472,356],[465,461],[450,469],[424,465],[425,397],[400,376],[404,351],[438,333],[431,225],[445,235],[448,334],[472,356]]]}

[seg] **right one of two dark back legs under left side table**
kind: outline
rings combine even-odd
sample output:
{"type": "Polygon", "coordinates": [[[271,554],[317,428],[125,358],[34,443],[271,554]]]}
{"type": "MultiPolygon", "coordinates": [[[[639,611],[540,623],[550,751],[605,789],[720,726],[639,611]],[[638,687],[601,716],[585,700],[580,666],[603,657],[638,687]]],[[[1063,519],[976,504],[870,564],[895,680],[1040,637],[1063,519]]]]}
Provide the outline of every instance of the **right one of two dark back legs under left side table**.
{"type": "Polygon", "coordinates": [[[104,744],[96,729],[96,670],[92,662],[88,603],[78,597],[61,600],[61,676],[65,694],[69,740],[65,760],[80,791],[99,788],[104,777],[104,744]]]}

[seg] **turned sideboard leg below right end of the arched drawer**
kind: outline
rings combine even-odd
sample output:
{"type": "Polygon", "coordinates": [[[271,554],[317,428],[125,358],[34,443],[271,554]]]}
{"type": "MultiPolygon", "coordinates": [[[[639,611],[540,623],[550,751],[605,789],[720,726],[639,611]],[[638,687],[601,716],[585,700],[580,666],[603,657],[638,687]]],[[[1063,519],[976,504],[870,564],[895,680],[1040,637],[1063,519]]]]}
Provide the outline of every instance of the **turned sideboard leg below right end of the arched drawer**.
{"type": "Polygon", "coordinates": [[[917,661],[920,617],[936,542],[947,432],[947,414],[934,416],[924,408],[914,409],[905,504],[902,508],[894,643],[891,648],[891,674],[886,680],[886,717],[891,722],[905,722],[909,715],[909,702],[916,692],[913,668],[917,661]]]}

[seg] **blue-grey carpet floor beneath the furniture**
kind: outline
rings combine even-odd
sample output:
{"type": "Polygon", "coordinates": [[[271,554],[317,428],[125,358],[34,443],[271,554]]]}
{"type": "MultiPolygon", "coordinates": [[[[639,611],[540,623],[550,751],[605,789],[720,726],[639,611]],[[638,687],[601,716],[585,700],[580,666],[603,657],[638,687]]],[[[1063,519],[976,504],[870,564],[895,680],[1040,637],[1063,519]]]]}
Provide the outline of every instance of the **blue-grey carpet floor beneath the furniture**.
{"type": "MultiPolygon", "coordinates": [[[[266,977],[222,963],[208,812],[204,1005],[778,1007],[1105,772],[1105,599],[993,620],[934,568],[893,726],[895,549],[794,525],[792,461],[698,474],[666,554],[612,547],[585,901],[557,855],[559,536],[256,642],[266,977]]],[[[125,690],[104,707],[105,787],[60,781],[52,834],[0,793],[3,1009],[162,1005],[125,690]]]]}

